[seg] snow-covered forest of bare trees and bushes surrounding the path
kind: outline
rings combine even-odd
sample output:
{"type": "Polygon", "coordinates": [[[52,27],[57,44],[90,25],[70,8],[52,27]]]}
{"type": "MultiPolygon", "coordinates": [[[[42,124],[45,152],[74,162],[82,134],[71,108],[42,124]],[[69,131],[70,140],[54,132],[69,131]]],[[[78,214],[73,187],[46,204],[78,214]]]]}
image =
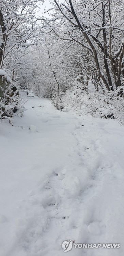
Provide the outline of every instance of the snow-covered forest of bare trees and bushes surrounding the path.
{"type": "Polygon", "coordinates": [[[41,2],[1,1],[1,118],[23,112],[19,91],[33,90],[57,109],[123,124],[124,2],[54,0],[39,16],[41,2]]]}

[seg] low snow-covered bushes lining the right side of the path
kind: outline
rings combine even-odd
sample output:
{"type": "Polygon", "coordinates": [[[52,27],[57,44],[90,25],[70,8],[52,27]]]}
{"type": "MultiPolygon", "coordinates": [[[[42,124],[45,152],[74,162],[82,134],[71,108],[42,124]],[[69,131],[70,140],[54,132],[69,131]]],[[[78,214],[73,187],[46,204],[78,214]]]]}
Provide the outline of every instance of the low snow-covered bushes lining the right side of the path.
{"type": "Polygon", "coordinates": [[[61,105],[65,111],[73,109],[78,114],[105,119],[115,118],[124,124],[124,97],[118,96],[120,91],[123,91],[122,87],[118,88],[116,92],[106,90],[103,93],[102,90],[99,90],[90,91],[87,94],[79,88],[72,87],[63,96],[61,105]]]}

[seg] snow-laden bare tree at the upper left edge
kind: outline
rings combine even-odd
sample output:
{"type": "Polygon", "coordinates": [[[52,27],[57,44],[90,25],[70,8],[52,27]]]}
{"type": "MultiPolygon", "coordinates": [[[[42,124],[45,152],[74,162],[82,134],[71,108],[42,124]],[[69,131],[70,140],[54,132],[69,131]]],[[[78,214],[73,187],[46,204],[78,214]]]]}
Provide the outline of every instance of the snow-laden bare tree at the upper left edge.
{"type": "Polygon", "coordinates": [[[0,68],[11,51],[37,43],[40,34],[35,17],[38,3],[39,0],[0,2],[0,68]]]}

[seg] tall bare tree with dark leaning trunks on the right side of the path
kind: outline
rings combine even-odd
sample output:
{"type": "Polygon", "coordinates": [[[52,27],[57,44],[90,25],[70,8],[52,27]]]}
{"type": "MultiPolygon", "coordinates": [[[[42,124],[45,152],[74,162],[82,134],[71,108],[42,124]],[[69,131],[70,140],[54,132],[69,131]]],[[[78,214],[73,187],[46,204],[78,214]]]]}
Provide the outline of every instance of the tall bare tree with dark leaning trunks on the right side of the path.
{"type": "MultiPolygon", "coordinates": [[[[76,42],[87,49],[94,59],[93,65],[94,63],[96,65],[97,77],[107,90],[114,91],[122,86],[124,83],[123,1],[69,0],[60,3],[58,0],[53,0],[52,5],[51,19],[42,19],[44,32],[54,33],[55,38],[58,37],[69,43],[76,42]],[[117,8],[116,13],[115,8],[117,8]]],[[[122,91],[120,95],[122,96],[122,91]]]]}

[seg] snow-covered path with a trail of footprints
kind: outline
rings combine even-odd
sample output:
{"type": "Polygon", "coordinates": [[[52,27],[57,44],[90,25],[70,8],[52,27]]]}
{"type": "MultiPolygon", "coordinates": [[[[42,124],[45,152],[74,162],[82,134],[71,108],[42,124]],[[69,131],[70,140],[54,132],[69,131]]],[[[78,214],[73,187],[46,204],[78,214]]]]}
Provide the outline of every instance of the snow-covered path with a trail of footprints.
{"type": "Polygon", "coordinates": [[[124,127],[37,97],[26,108],[0,124],[0,256],[61,256],[68,239],[121,247],[67,255],[123,256],[124,127]]]}

